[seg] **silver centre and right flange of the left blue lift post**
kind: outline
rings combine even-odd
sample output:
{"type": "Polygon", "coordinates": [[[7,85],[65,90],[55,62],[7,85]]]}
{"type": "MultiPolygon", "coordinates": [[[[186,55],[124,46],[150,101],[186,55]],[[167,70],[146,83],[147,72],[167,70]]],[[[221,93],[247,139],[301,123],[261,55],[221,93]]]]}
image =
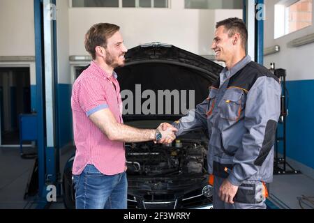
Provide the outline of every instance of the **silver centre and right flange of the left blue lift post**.
{"type": "MultiPolygon", "coordinates": [[[[59,148],[57,148],[57,6],[55,0],[43,0],[45,45],[45,117],[46,117],[46,185],[59,184],[59,148]]],[[[59,190],[60,191],[60,190],[59,190]]],[[[56,194],[57,195],[57,194],[56,194]]]]}

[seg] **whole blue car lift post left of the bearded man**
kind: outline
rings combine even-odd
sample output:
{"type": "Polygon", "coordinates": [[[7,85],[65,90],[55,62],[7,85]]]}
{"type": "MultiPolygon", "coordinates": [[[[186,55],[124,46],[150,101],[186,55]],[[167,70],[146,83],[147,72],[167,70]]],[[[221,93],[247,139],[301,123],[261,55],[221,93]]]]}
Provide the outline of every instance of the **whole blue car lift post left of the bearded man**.
{"type": "MultiPolygon", "coordinates": [[[[48,204],[48,185],[57,185],[59,177],[59,149],[55,143],[57,123],[57,38],[56,21],[51,18],[55,0],[34,0],[36,47],[36,109],[38,115],[38,206],[48,204]]],[[[51,187],[49,187],[51,188],[51,187]]],[[[57,195],[56,194],[56,195],[57,195]]]]}

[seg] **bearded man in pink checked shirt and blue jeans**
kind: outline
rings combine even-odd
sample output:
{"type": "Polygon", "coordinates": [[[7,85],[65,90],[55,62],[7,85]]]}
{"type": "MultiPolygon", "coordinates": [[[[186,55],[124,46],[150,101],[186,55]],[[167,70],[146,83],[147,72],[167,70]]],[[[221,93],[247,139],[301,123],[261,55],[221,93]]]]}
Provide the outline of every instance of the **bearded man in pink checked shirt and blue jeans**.
{"type": "Polygon", "coordinates": [[[127,49],[119,26],[100,23],[85,36],[93,61],[73,84],[71,107],[76,146],[73,163],[75,205],[81,209],[126,208],[124,142],[169,144],[176,128],[137,129],[123,124],[114,68],[124,66],[127,49]]]}

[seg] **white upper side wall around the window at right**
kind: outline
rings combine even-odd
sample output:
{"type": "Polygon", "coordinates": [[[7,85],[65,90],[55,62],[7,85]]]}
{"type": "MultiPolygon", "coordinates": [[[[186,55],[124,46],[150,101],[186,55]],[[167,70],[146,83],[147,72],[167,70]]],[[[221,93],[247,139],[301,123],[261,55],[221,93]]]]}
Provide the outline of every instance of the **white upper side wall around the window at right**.
{"type": "MultiPolygon", "coordinates": [[[[287,70],[287,80],[314,79],[314,43],[288,48],[287,43],[295,38],[314,33],[314,24],[281,38],[274,39],[274,5],[278,0],[265,0],[266,20],[264,22],[264,47],[279,45],[281,51],[264,57],[264,66],[274,62],[276,68],[287,70]]],[[[314,4],[313,4],[314,12],[314,4]]],[[[312,18],[314,22],[314,18],[312,18]]]]}

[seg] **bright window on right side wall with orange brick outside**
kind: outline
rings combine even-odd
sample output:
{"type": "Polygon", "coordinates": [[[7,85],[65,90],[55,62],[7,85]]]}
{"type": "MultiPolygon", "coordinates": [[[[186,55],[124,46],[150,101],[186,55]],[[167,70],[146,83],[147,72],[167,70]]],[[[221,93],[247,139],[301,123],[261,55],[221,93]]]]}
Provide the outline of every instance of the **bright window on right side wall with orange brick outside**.
{"type": "Polygon", "coordinates": [[[312,1],[281,1],[275,5],[275,36],[279,38],[312,24],[312,1]]]}

